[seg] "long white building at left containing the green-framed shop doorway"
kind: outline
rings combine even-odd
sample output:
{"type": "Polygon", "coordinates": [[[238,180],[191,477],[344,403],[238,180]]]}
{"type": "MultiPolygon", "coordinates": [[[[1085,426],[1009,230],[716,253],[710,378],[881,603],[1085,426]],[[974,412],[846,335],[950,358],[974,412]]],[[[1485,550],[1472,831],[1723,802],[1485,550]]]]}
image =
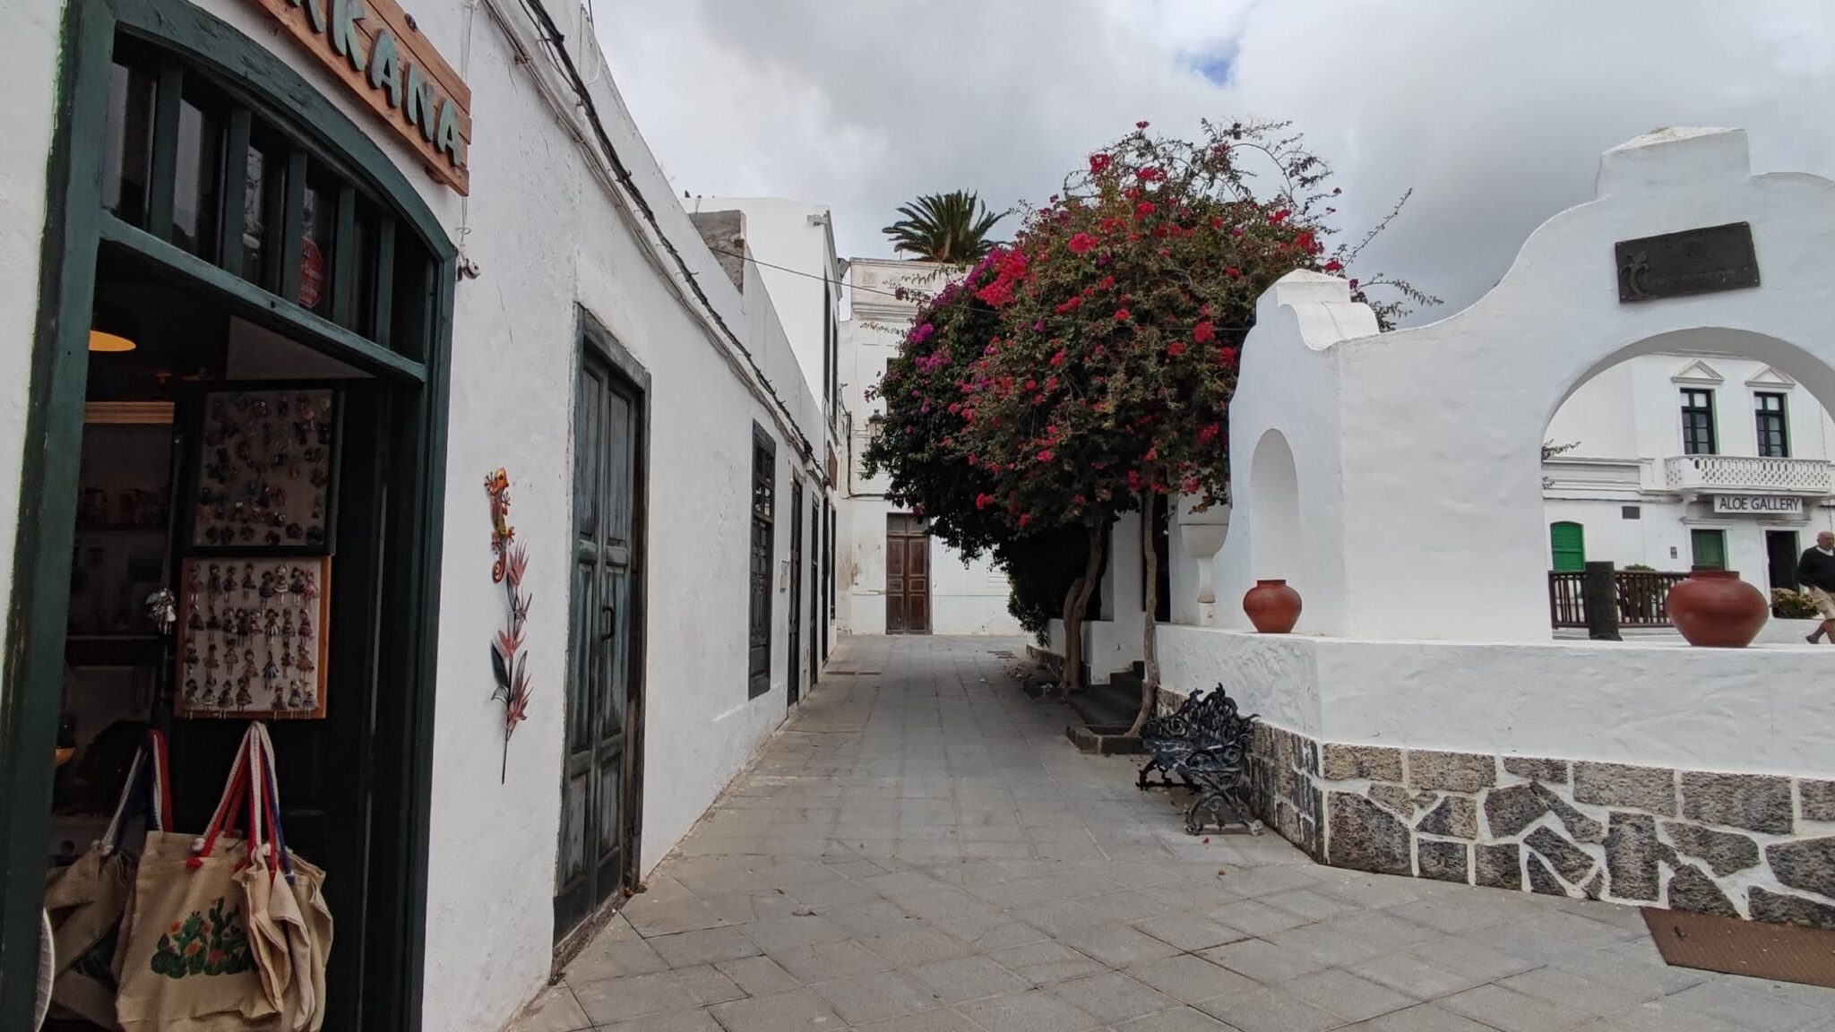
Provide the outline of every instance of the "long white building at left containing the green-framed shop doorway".
{"type": "Polygon", "coordinates": [[[578,6],[28,4],[0,64],[0,1026],[29,1026],[46,859],[106,819],[116,731],[167,731],[198,832],[272,711],[338,920],[325,1026],[495,1032],[809,683],[806,308],[728,281],[578,6]],[[218,510],[218,466],[288,487],[218,510]],[[532,599],[508,742],[495,470],[532,599]],[[323,577],[314,635],[268,630],[323,718],[248,667],[251,703],[178,683],[222,632],[161,639],[141,599],[187,611],[187,562],[323,577]]]}

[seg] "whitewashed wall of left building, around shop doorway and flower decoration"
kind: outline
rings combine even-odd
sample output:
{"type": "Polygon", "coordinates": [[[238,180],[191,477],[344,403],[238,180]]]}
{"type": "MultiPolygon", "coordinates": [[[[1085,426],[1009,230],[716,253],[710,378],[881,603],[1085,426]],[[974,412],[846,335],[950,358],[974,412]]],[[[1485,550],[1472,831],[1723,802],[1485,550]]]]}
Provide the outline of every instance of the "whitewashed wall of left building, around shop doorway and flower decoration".
{"type": "MultiPolygon", "coordinates": [[[[292,64],[352,121],[374,127],[257,7],[202,0],[292,64]]],[[[717,338],[672,285],[666,259],[648,253],[624,211],[589,171],[567,125],[538,88],[565,84],[516,6],[429,0],[420,31],[453,62],[473,94],[477,138],[472,196],[431,182],[380,127],[393,154],[446,231],[462,241],[481,275],[459,283],[453,308],[451,424],[446,545],[435,712],[431,856],[424,1026],[495,1032],[547,981],[552,942],[554,854],[560,828],[562,733],[567,674],[567,573],[573,457],[576,303],[585,305],[651,375],[648,584],[648,724],[642,869],[653,867],[785,716],[785,641],[791,615],[784,582],[774,595],[771,692],[747,700],[747,540],[752,422],[778,441],[778,556],[789,555],[789,476],[802,466],[773,406],[745,387],[743,362],[721,356],[717,338]],[[503,613],[490,582],[488,468],[512,477],[514,525],[530,549],[528,624],[536,694],[510,744],[499,784],[503,707],[490,701],[486,645],[503,613]],[[694,613],[694,621],[683,619],[694,613]],[[484,931],[488,929],[488,931],[484,931]]],[[[15,369],[26,369],[37,310],[37,255],[44,220],[44,152],[55,110],[59,13],[28,6],[0,35],[9,103],[0,130],[0,320],[15,369]]],[[[725,321],[745,334],[756,364],[773,375],[791,424],[820,441],[820,411],[782,325],[747,303],[705,250],[618,99],[591,28],[567,4],[554,9],[574,61],[593,86],[620,156],[650,198],[725,321]]],[[[589,138],[589,136],[587,136],[589,138]]],[[[763,292],[760,292],[763,297],[763,292]]],[[[24,446],[24,378],[0,391],[0,448],[24,446]]],[[[17,468],[17,466],[15,466],[17,468]]],[[[813,470],[806,468],[807,477],[813,470]]],[[[0,477],[0,542],[13,547],[17,477],[0,477]]],[[[807,499],[806,499],[807,505],[807,499]]],[[[804,527],[809,533],[807,522],[804,527]]],[[[806,553],[807,556],[807,553],[806,553]]],[[[0,556],[0,578],[11,571],[0,556]]],[[[798,571],[804,573],[804,571],[798,571]]],[[[811,595],[806,591],[806,604],[811,595]]],[[[807,678],[807,670],[804,670],[807,678]]],[[[284,762],[284,758],[283,758],[284,762]]],[[[338,872],[332,872],[336,878],[338,872]]]]}

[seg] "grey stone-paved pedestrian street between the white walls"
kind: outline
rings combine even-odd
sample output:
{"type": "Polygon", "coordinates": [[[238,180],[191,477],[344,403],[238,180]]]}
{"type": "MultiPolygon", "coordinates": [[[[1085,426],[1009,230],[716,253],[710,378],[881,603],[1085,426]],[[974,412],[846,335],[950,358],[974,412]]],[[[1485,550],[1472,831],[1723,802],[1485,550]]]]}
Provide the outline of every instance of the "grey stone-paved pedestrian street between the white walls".
{"type": "Polygon", "coordinates": [[[1666,968],[1628,907],[1191,839],[1020,656],[844,637],[514,1030],[1835,1030],[1835,990],[1666,968]]]}

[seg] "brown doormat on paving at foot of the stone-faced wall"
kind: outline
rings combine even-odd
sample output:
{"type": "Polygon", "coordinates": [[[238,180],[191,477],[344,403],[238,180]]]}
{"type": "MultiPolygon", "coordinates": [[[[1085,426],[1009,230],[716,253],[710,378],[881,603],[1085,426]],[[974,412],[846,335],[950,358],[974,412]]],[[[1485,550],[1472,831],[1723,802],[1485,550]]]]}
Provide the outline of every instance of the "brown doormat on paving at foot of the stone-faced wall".
{"type": "Polygon", "coordinates": [[[1675,968],[1835,988],[1835,931],[1642,907],[1675,968]]]}

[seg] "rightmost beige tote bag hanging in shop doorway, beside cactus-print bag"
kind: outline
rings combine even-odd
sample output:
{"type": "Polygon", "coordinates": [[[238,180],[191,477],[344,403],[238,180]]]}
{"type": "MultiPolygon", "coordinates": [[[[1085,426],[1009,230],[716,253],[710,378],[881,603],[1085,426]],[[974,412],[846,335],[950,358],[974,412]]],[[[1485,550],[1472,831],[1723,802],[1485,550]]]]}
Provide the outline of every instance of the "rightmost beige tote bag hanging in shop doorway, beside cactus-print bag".
{"type": "Polygon", "coordinates": [[[255,775],[262,813],[259,856],[237,874],[250,900],[255,966],[284,1032],[317,1032],[325,1025],[325,962],[332,948],[332,914],[325,905],[325,872],[286,848],[273,738],[257,724],[255,775]]]}

